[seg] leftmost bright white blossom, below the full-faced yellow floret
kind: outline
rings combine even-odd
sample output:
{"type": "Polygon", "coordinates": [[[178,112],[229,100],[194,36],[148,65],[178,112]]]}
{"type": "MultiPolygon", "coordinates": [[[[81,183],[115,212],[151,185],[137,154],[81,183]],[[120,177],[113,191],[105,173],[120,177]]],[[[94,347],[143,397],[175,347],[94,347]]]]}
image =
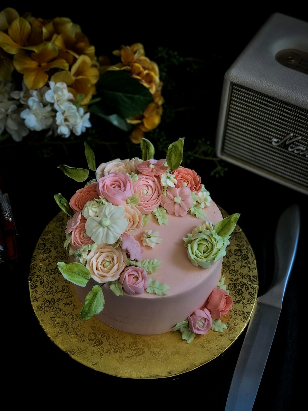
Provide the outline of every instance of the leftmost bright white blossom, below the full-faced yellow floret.
{"type": "Polygon", "coordinates": [[[30,97],[28,106],[29,109],[23,110],[20,115],[28,129],[41,131],[51,126],[54,113],[50,105],[44,107],[37,97],[30,97]]]}

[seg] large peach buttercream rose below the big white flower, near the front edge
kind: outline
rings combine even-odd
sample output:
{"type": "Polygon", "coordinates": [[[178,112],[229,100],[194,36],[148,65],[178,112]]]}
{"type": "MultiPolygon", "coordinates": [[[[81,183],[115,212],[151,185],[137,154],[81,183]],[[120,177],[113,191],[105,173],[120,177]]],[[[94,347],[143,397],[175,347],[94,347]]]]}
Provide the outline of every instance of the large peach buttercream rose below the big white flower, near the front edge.
{"type": "Polygon", "coordinates": [[[86,267],[99,283],[117,280],[126,266],[126,253],[120,248],[100,244],[87,256],[86,267]]]}

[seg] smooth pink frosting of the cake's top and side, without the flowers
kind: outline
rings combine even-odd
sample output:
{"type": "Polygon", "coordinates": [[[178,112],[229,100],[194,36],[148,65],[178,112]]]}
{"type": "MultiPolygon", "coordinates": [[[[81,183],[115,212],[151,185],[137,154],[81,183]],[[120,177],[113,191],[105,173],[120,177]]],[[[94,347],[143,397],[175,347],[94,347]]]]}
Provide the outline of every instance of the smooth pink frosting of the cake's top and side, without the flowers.
{"type": "MultiPolygon", "coordinates": [[[[186,320],[195,309],[205,305],[205,301],[217,288],[221,279],[222,259],[213,263],[210,268],[195,267],[188,258],[183,240],[204,220],[216,224],[222,219],[221,212],[213,201],[203,211],[207,216],[205,219],[198,219],[189,213],[185,216],[168,214],[167,226],[159,225],[157,220],[151,217],[135,238],[143,249],[143,259],[161,261],[161,268],[149,274],[149,277],[161,284],[167,284],[170,287],[167,295],[158,296],[147,292],[128,295],[123,290],[123,296],[116,296],[106,283],[102,287],[104,309],[96,316],[99,321],[133,334],[161,334],[171,331],[177,323],[186,320]],[[154,248],[143,245],[140,237],[145,230],[158,231],[162,242],[154,248]]],[[[90,281],[86,287],[74,286],[82,304],[93,285],[90,281]]]]}

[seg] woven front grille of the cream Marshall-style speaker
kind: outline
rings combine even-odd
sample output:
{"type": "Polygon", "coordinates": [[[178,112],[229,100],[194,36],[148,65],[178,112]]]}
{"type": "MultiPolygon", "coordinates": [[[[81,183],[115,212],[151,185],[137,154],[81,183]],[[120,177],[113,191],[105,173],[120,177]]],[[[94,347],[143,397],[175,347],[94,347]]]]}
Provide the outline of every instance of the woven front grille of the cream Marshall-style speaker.
{"type": "Polygon", "coordinates": [[[307,150],[308,110],[231,84],[224,155],[308,189],[307,150]]]}

